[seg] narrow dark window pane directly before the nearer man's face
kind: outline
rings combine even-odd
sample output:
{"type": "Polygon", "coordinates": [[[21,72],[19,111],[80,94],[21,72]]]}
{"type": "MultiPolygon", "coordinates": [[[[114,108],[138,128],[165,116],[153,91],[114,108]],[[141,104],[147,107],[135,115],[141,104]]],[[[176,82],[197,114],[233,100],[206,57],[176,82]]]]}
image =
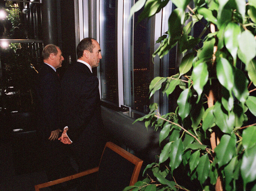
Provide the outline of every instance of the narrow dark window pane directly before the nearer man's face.
{"type": "Polygon", "coordinates": [[[102,59],[102,99],[118,104],[117,53],[116,53],[116,0],[102,0],[99,5],[99,41],[102,59]]]}

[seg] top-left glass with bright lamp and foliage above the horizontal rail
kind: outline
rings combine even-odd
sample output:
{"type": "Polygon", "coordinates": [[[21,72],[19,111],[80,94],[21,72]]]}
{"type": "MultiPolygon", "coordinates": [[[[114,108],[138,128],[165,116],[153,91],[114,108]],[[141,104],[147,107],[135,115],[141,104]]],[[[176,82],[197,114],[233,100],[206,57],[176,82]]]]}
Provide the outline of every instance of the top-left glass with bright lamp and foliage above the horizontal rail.
{"type": "MultiPolygon", "coordinates": [[[[1,4],[2,5],[2,4],[1,4]]],[[[41,4],[6,1],[0,8],[0,39],[39,39],[41,4]]]]}

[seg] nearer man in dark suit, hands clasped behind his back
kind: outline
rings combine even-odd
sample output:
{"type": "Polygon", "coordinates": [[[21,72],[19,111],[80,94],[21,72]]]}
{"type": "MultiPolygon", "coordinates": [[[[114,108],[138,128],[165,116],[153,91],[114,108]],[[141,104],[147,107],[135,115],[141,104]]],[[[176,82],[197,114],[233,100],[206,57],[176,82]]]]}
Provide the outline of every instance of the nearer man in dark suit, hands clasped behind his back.
{"type": "Polygon", "coordinates": [[[62,78],[62,118],[65,126],[59,140],[72,144],[79,171],[99,164],[105,142],[99,98],[99,81],[92,68],[99,65],[101,49],[93,38],[77,46],[78,60],[62,78]]]}

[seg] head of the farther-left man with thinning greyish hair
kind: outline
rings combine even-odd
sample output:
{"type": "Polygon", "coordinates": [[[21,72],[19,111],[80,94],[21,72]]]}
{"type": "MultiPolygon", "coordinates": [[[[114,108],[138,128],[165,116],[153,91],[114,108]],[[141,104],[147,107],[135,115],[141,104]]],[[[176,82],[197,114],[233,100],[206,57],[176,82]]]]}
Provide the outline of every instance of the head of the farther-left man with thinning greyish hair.
{"type": "Polygon", "coordinates": [[[54,44],[48,44],[44,47],[42,57],[45,63],[52,65],[54,68],[61,67],[64,60],[60,48],[54,44]]]}

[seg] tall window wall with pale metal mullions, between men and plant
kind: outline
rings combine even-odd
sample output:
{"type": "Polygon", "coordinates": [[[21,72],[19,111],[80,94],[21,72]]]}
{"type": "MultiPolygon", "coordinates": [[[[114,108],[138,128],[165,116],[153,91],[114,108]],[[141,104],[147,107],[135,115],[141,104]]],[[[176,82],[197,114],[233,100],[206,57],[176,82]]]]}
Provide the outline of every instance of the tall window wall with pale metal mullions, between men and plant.
{"type": "Polygon", "coordinates": [[[168,28],[172,3],[169,2],[169,6],[158,16],[138,22],[143,9],[129,18],[131,7],[136,2],[97,1],[97,40],[102,52],[98,73],[101,98],[119,107],[128,106],[138,113],[148,113],[151,102],[157,102],[161,114],[167,113],[174,108],[175,96],[167,100],[161,92],[157,92],[149,99],[149,84],[156,76],[166,77],[176,73],[176,47],[162,59],[155,57],[154,64],[152,61],[152,53],[158,47],[155,41],[168,28]]]}

